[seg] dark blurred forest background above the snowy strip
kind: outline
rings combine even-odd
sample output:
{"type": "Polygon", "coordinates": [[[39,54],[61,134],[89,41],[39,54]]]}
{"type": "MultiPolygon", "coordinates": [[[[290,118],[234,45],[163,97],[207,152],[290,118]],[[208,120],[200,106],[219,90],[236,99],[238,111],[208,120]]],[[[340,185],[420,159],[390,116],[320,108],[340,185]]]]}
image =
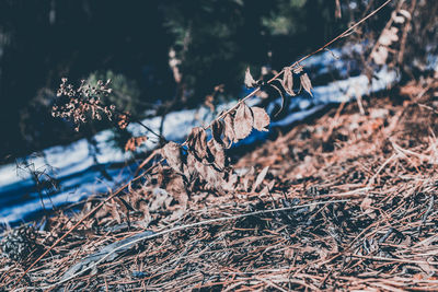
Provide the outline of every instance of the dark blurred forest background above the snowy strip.
{"type": "MultiPolygon", "coordinates": [[[[62,77],[73,83],[111,78],[119,95],[111,102],[140,116],[164,110],[174,98],[174,106],[194,107],[218,84],[223,95],[239,94],[246,66],[280,69],[321,46],[360,17],[368,2],[2,0],[1,161],[91,135],[50,116],[62,77]],[[337,16],[336,2],[345,11],[337,16]]],[[[373,19],[376,30],[388,13],[373,19]]]]}

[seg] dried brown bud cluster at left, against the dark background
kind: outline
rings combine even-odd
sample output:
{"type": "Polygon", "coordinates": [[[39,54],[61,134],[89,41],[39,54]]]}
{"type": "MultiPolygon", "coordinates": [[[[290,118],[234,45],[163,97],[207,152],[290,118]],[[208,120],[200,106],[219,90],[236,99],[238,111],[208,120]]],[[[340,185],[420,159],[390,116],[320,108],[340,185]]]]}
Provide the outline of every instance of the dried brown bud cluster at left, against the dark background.
{"type": "Polygon", "coordinates": [[[115,106],[105,106],[101,101],[102,96],[112,93],[112,90],[108,89],[110,82],[111,80],[107,80],[106,83],[99,80],[97,84],[92,86],[82,80],[79,89],[74,89],[73,85],[67,83],[66,78],[62,78],[57,96],[64,98],[60,98],[60,104],[53,106],[51,115],[72,120],[77,131],[81,124],[94,119],[102,120],[103,115],[112,120],[115,115],[115,106]]]}

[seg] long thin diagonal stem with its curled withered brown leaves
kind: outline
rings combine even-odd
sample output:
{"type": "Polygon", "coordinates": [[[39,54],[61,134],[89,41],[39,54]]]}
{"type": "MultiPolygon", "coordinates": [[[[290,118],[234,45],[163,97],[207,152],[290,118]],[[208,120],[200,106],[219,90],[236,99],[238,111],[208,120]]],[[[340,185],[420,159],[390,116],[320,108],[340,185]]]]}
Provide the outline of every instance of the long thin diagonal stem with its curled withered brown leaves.
{"type": "MultiPolygon", "coordinates": [[[[245,74],[245,83],[246,85],[256,86],[256,89],[242,98],[238,104],[235,104],[230,109],[221,113],[210,125],[207,127],[196,127],[192,129],[191,135],[187,140],[177,144],[175,142],[169,142],[164,144],[161,149],[161,155],[163,160],[168,162],[170,168],[173,172],[181,175],[184,178],[184,184],[187,186],[194,179],[198,179],[201,177],[208,184],[217,187],[224,188],[233,183],[234,175],[230,174],[228,168],[228,160],[226,157],[226,149],[230,148],[232,143],[238,142],[241,139],[246,138],[253,129],[256,130],[266,130],[266,127],[269,125],[269,116],[265,112],[265,109],[261,107],[250,107],[245,104],[245,101],[251,98],[261,92],[261,87],[264,85],[272,85],[274,81],[281,81],[280,84],[285,92],[289,91],[289,95],[293,95],[293,74],[298,74],[300,78],[300,84],[302,89],[311,94],[311,82],[309,77],[303,73],[303,69],[300,63],[308,59],[309,57],[324,50],[326,47],[335,43],[336,40],[349,35],[354,30],[364,23],[366,20],[374,15],[378,11],[380,11],[383,7],[390,3],[392,0],[387,0],[383,4],[381,4],[378,9],[369,13],[367,16],[361,19],[356,24],[351,25],[344,33],[333,38],[331,42],[326,43],[324,46],[319,48],[312,54],[307,55],[301,58],[293,65],[286,67],[284,70],[275,74],[267,82],[257,82],[252,78],[250,71],[246,71],[245,74]],[[279,79],[283,75],[283,79],[279,79]],[[211,131],[211,139],[207,141],[207,132],[206,130],[211,131]]],[[[65,83],[65,82],[64,82],[65,83]]],[[[301,89],[300,89],[301,90],[301,89]]],[[[69,93],[69,89],[67,89],[67,93],[69,93]]],[[[72,95],[67,95],[69,98],[72,98],[72,95]]],[[[74,117],[76,105],[71,106],[73,109],[67,108],[66,116],[74,117]]],[[[61,110],[61,113],[65,113],[61,110]]],[[[81,113],[81,112],[80,112],[81,113]]],[[[79,113],[79,114],[80,114],[79,113]]],[[[81,116],[81,115],[79,115],[81,116]]],[[[82,120],[79,118],[79,120],[82,120]]],[[[49,248],[47,248],[27,269],[20,276],[20,278],[14,281],[13,289],[15,289],[20,281],[27,275],[27,272],[42,260],[50,250],[54,249],[64,238],[66,238],[71,232],[73,232],[80,224],[82,224],[91,215],[95,214],[97,210],[100,210],[105,203],[110,202],[113,198],[118,196],[125,189],[130,189],[131,184],[141,178],[145,174],[149,173],[155,166],[161,164],[154,164],[145,171],[143,174],[137,176],[126,185],[122,186],[113,194],[111,194],[106,199],[102,200],[96,207],[94,207],[90,212],[84,214],[73,226],[69,227],[67,232],[65,232],[58,240],[56,240],[49,248]]],[[[255,179],[253,188],[256,189],[261,182],[263,182],[264,176],[267,173],[267,168],[262,171],[262,173],[255,179]]],[[[270,211],[269,211],[270,212],[270,211]]],[[[310,221],[307,221],[310,222],[310,221]]],[[[196,223],[198,224],[198,223],[196,223]]],[[[289,224],[290,225],[290,224],[289,224]]],[[[290,234],[288,234],[290,237],[290,234]]],[[[326,279],[326,278],[325,278],[326,279]]],[[[290,278],[288,278],[290,280],[290,278]]],[[[325,280],[324,280],[325,281],[325,280]]]]}

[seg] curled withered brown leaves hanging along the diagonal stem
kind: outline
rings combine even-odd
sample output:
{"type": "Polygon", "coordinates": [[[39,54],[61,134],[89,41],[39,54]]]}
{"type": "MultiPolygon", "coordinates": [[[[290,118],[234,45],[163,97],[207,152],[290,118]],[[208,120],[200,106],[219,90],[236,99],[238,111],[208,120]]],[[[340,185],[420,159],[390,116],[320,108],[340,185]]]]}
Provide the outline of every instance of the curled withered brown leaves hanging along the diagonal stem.
{"type": "MultiPolygon", "coordinates": [[[[281,90],[286,93],[295,96],[304,89],[309,94],[312,94],[311,81],[299,63],[286,67],[283,70],[283,80],[278,80],[280,81],[281,90]],[[297,92],[293,89],[293,74],[300,79],[300,89],[297,92]]],[[[262,81],[254,80],[249,68],[245,71],[244,83],[247,87],[260,87],[263,84],[262,81]]],[[[280,89],[274,84],[267,84],[275,86],[281,97],[285,98],[280,89]]],[[[171,168],[184,177],[186,187],[191,182],[199,183],[197,180],[199,178],[211,187],[222,190],[223,186],[229,185],[226,180],[232,177],[226,149],[249,137],[253,129],[267,131],[270,122],[269,115],[262,107],[247,106],[245,98],[228,112],[220,114],[208,127],[193,128],[187,140],[180,145],[180,149],[174,142],[170,142],[163,148],[161,152],[163,159],[171,168]],[[206,129],[211,132],[209,141],[207,141],[206,129]],[[184,145],[187,147],[186,154],[183,154],[184,145]]]]}

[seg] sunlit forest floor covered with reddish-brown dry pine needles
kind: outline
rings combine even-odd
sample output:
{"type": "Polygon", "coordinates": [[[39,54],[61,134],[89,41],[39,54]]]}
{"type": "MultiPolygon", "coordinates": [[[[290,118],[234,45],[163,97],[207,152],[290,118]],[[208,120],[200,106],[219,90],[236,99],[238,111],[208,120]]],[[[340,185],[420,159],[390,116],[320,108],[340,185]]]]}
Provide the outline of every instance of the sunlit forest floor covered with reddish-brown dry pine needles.
{"type": "MultiPolygon", "coordinates": [[[[438,290],[438,82],[366,100],[362,114],[358,105],[246,153],[233,191],[199,189],[184,205],[160,179],[132,184],[15,289],[438,290]]],[[[1,257],[0,287],[103,199],[16,232],[15,246],[35,252],[1,257]]]]}

